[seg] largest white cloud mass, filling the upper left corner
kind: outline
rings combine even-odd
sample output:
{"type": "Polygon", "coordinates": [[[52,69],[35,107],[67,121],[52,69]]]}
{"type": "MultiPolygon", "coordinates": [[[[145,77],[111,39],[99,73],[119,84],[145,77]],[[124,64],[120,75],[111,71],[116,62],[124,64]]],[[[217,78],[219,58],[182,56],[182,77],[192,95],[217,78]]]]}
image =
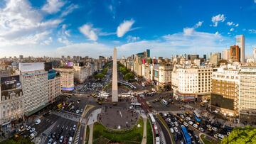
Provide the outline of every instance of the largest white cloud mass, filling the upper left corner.
{"type": "Polygon", "coordinates": [[[61,22],[61,19],[43,21],[41,12],[27,0],[6,1],[6,6],[0,9],[0,46],[40,44],[45,40],[47,44],[50,31],[61,22]]]}

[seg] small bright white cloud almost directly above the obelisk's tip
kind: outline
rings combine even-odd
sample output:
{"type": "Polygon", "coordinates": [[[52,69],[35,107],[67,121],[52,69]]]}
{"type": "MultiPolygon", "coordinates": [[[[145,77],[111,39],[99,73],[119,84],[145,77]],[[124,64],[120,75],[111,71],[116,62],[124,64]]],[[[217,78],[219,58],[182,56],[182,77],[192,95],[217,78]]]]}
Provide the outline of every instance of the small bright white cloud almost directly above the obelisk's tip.
{"type": "Polygon", "coordinates": [[[130,20],[130,21],[124,21],[123,23],[121,23],[117,27],[117,37],[121,38],[122,36],[124,36],[125,33],[130,31],[134,22],[135,22],[134,20],[130,20]]]}

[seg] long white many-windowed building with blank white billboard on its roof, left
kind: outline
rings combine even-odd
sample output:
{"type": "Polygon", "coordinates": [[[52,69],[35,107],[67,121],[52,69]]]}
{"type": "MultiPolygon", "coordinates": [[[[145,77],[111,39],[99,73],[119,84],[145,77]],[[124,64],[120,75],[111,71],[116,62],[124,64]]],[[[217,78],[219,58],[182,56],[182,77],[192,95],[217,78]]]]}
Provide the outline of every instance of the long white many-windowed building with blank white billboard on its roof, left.
{"type": "Polygon", "coordinates": [[[48,105],[48,72],[43,62],[19,63],[25,116],[48,105]]]}

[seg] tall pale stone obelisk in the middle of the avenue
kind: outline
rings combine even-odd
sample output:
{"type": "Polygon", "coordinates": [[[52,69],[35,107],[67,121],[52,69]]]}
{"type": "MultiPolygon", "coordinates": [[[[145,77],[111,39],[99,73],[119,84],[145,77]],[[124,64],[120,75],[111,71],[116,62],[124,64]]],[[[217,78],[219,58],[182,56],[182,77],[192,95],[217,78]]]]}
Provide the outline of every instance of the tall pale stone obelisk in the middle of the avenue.
{"type": "Polygon", "coordinates": [[[112,102],[118,101],[117,93],[117,48],[114,48],[112,69],[112,102]]]}

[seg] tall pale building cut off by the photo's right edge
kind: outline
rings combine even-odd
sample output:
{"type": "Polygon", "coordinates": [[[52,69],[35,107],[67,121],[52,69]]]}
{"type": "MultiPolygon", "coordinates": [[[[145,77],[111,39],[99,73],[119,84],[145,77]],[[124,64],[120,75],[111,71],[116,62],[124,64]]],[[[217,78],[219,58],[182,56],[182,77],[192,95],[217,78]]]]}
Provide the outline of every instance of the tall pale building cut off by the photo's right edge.
{"type": "Polygon", "coordinates": [[[256,67],[241,67],[239,118],[240,122],[256,124],[256,67]]]}

